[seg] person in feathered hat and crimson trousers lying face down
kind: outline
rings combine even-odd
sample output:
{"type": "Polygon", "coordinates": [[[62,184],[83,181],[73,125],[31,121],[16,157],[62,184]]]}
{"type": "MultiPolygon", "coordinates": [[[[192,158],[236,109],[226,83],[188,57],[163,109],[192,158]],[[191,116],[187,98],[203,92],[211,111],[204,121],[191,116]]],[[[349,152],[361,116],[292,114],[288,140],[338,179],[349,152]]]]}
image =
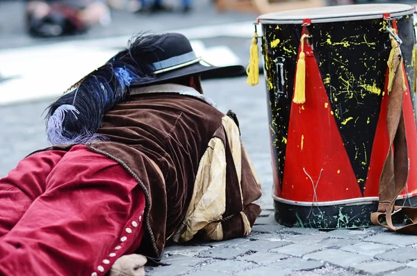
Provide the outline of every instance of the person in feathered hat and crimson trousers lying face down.
{"type": "Polygon", "coordinates": [[[142,275],[138,254],[158,263],[167,240],[249,235],[259,179],[200,82],[243,72],[181,34],[138,35],[70,88],[47,109],[53,146],[0,179],[0,275],[119,275],[129,256],[142,275]]]}

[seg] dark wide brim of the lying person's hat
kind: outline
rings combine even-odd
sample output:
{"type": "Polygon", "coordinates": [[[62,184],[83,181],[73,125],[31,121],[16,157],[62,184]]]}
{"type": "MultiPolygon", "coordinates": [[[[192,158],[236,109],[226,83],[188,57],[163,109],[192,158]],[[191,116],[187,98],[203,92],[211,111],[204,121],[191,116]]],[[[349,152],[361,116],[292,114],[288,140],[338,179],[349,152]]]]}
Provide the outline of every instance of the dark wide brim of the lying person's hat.
{"type": "Polygon", "coordinates": [[[131,87],[150,86],[154,84],[167,83],[172,79],[181,79],[187,76],[201,75],[202,79],[218,79],[230,78],[234,76],[243,76],[246,74],[245,67],[241,65],[232,65],[224,67],[216,67],[208,65],[204,60],[199,63],[194,63],[185,67],[180,67],[176,70],[156,74],[155,79],[151,79],[145,83],[131,83],[131,87]]]}

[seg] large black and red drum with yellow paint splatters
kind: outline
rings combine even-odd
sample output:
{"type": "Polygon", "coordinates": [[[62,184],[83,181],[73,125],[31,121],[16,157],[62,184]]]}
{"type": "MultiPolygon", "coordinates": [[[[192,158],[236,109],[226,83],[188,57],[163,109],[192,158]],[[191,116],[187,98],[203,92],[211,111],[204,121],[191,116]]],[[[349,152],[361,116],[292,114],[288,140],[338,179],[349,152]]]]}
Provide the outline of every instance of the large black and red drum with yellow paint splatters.
{"type": "Polygon", "coordinates": [[[261,15],[259,23],[277,221],[320,229],[370,225],[391,145],[387,62],[395,43],[403,57],[402,112],[410,168],[397,204],[416,205],[414,7],[291,10],[261,15]],[[294,95],[295,90],[305,99],[294,95]]]}

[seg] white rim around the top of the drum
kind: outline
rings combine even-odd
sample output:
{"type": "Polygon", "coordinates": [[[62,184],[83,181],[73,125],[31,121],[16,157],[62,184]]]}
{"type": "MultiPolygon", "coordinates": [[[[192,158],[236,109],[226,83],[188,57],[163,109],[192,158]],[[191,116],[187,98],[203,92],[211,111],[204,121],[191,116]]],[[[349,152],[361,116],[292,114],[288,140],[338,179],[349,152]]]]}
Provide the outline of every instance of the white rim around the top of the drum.
{"type": "MultiPolygon", "coordinates": [[[[337,6],[338,9],[342,9],[344,7],[348,7],[350,5],[345,6],[337,6]]],[[[359,4],[355,6],[381,6],[381,4],[359,4]]],[[[392,6],[393,8],[395,6],[397,7],[403,7],[404,10],[397,10],[393,13],[390,13],[391,17],[398,17],[402,15],[412,15],[414,13],[414,6],[408,5],[408,4],[402,4],[402,3],[390,3],[390,4],[384,4],[384,6],[392,6]]],[[[327,7],[328,8],[328,7],[327,7]]],[[[320,10],[322,8],[304,8],[300,10],[320,10]]],[[[272,16],[277,16],[279,13],[286,13],[289,10],[286,10],[284,12],[278,12],[278,13],[267,13],[265,15],[260,15],[258,17],[258,22],[261,24],[302,24],[303,19],[311,19],[311,23],[327,23],[327,22],[341,22],[341,21],[356,21],[356,20],[363,20],[363,19],[382,19],[384,18],[384,13],[381,11],[372,13],[368,12],[368,14],[359,14],[359,15],[349,15],[349,16],[341,16],[341,15],[324,15],[319,17],[318,15],[312,16],[312,17],[298,17],[295,18],[294,16],[285,15],[279,18],[272,18],[272,16]],[[291,18],[293,17],[293,18],[291,18]]],[[[296,12],[297,10],[292,10],[293,12],[296,12]]]]}

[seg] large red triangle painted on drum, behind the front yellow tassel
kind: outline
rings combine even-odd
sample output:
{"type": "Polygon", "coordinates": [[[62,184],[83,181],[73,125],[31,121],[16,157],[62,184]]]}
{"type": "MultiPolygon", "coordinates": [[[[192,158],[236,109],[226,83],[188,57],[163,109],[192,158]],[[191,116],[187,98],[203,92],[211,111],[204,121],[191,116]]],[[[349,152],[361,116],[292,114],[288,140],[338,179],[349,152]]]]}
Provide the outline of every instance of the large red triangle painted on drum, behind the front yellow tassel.
{"type": "Polygon", "coordinates": [[[305,61],[306,102],[291,106],[281,197],[302,202],[362,197],[316,58],[306,55],[305,61]]]}

